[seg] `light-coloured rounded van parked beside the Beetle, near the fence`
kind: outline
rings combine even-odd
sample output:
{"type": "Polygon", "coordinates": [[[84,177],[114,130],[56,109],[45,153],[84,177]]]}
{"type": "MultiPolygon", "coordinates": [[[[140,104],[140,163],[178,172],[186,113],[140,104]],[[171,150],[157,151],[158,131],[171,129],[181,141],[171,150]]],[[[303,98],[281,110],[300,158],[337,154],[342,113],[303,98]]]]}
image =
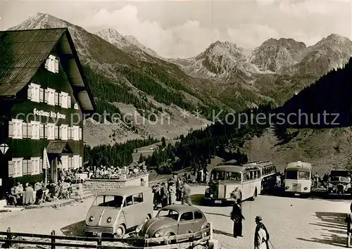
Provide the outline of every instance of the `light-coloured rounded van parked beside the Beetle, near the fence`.
{"type": "Polygon", "coordinates": [[[153,193],[146,186],[125,186],[96,196],[87,213],[87,236],[123,238],[153,215],[153,193]]]}

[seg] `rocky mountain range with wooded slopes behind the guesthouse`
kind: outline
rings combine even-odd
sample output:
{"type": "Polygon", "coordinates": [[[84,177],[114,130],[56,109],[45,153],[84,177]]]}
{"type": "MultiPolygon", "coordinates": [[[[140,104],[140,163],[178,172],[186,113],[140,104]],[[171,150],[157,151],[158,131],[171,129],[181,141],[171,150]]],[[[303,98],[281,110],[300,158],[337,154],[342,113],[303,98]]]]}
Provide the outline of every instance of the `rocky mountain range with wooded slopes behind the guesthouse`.
{"type": "Polygon", "coordinates": [[[229,41],[215,41],[198,56],[177,59],[162,58],[117,30],[92,34],[46,13],[37,13],[11,30],[49,27],[70,30],[100,111],[137,111],[137,121],[150,113],[170,115],[170,125],[136,120],[132,125],[106,125],[88,120],[84,136],[92,145],[149,135],[173,138],[210,124],[213,110],[239,111],[263,103],[281,106],[352,56],[352,41],[339,34],[313,46],[294,39],[268,39],[251,53],[229,41]],[[182,117],[186,110],[198,109],[201,117],[182,117]]]}

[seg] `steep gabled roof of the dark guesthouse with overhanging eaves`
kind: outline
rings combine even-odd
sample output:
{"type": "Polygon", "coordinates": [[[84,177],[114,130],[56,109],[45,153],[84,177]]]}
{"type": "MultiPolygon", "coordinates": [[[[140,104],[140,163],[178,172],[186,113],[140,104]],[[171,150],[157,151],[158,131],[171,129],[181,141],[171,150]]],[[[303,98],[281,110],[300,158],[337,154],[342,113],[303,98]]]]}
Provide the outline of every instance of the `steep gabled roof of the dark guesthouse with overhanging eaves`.
{"type": "Polygon", "coordinates": [[[81,110],[93,112],[94,99],[67,28],[0,32],[0,96],[15,96],[30,83],[56,45],[81,110]]]}

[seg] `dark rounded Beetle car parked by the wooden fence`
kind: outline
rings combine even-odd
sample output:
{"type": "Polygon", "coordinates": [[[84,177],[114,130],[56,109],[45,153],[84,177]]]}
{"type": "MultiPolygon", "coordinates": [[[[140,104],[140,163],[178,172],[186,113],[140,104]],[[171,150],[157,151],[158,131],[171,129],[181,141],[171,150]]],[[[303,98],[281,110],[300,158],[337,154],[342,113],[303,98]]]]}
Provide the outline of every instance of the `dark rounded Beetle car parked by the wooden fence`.
{"type": "MultiPolygon", "coordinates": [[[[155,218],[137,226],[136,233],[144,238],[189,234],[206,229],[208,221],[198,208],[189,205],[168,205],[155,218]]],[[[206,236],[199,234],[199,237],[206,236]]]]}

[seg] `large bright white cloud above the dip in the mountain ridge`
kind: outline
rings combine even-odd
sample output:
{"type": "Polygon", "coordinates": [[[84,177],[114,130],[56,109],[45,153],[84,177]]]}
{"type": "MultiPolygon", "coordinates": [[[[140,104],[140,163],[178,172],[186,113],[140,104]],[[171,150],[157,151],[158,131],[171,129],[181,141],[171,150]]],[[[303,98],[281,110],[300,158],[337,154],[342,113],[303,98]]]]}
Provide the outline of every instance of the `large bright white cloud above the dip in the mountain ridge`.
{"type": "Polygon", "coordinates": [[[120,34],[132,35],[142,44],[165,57],[189,57],[219,39],[217,29],[201,27],[199,21],[187,20],[180,25],[163,28],[160,23],[138,18],[138,9],[130,4],[115,11],[101,9],[80,21],[84,27],[111,27],[120,34]]]}

